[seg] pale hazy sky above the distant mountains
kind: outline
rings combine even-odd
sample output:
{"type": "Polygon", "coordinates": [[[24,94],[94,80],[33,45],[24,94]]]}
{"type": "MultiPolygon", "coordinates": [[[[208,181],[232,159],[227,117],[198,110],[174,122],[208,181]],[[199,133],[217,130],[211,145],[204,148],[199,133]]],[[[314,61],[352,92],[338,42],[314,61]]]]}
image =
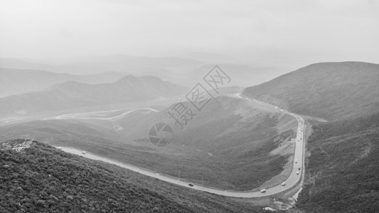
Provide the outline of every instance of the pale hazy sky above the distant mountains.
{"type": "Polygon", "coordinates": [[[379,63],[379,1],[1,0],[0,57],[175,55],[379,63]]]}

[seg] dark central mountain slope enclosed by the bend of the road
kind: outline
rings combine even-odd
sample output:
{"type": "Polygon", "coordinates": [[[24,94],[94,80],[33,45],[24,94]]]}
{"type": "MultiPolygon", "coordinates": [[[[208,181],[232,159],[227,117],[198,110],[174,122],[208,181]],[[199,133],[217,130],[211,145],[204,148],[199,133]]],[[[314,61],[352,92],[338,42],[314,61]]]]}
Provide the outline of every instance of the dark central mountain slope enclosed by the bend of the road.
{"type": "Polygon", "coordinates": [[[281,173],[288,161],[292,162],[294,144],[289,139],[294,137],[297,121],[291,116],[253,109],[245,99],[215,97],[201,112],[193,109],[196,115],[181,129],[169,119],[173,106],[149,114],[131,113],[113,121],[122,127],[117,133],[135,141],[136,146],[154,151],[135,154],[119,149],[117,154],[107,155],[125,162],[135,156],[134,165],[175,177],[180,170],[181,178],[196,182],[203,178],[206,185],[233,190],[259,187],[281,173]],[[166,148],[153,146],[148,138],[149,129],[158,122],[166,122],[174,129],[174,141],[166,148]],[[279,154],[270,154],[279,146],[287,147],[287,151],[283,148],[279,154]]]}

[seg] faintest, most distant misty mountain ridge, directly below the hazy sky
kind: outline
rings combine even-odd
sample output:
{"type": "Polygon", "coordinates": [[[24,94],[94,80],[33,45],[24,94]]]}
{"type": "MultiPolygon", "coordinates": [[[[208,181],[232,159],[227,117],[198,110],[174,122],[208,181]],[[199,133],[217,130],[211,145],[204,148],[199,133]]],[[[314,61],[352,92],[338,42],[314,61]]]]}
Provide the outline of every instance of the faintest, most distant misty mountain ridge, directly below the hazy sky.
{"type": "Polygon", "coordinates": [[[125,72],[136,76],[154,75],[186,87],[193,87],[193,84],[201,80],[216,64],[230,75],[233,80],[231,85],[242,87],[266,82],[286,71],[272,65],[267,66],[240,60],[230,55],[205,52],[166,57],[119,54],[58,58],[55,60],[0,58],[0,67],[47,70],[75,75],[99,72],[125,72]]]}

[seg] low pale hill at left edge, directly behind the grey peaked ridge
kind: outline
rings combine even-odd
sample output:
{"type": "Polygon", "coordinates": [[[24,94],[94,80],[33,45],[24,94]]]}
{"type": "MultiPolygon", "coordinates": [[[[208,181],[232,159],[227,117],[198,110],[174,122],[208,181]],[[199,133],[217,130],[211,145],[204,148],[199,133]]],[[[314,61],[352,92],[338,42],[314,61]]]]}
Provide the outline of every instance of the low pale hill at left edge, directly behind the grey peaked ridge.
{"type": "Polygon", "coordinates": [[[0,68],[0,97],[39,91],[53,84],[78,81],[88,84],[114,82],[127,75],[125,72],[103,72],[95,75],[71,75],[43,70],[0,68]]]}

